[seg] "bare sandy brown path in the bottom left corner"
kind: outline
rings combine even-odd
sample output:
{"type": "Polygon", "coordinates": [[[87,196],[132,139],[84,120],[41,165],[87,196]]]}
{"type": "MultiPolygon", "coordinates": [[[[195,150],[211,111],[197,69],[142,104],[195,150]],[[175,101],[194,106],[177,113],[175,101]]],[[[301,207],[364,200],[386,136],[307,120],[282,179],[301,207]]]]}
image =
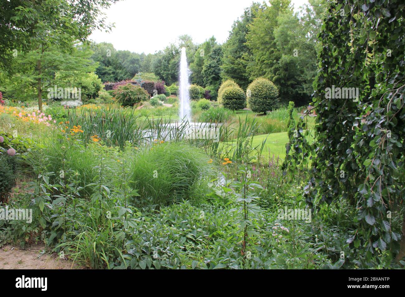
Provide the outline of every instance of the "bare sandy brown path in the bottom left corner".
{"type": "MultiPolygon", "coordinates": [[[[0,248],[0,269],[71,269],[72,262],[59,259],[56,253],[44,253],[43,244],[23,250],[11,245],[0,248]],[[41,255],[42,253],[42,255],[41,255]]],[[[77,269],[73,265],[73,269],[77,269]]]]}

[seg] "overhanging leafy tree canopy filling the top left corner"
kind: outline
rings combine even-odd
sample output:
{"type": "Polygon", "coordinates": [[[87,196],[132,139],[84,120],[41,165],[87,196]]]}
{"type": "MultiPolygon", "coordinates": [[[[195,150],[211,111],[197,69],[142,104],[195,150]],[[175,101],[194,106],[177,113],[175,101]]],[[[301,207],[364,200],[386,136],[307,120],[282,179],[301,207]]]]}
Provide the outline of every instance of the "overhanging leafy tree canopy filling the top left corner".
{"type": "Polygon", "coordinates": [[[13,58],[38,46],[38,40],[71,48],[72,38],[83,42],[94,29],[111,29],[102,9],[116,0],[12,0],[0,6],[0,69],[13,73],[13,58]]]}

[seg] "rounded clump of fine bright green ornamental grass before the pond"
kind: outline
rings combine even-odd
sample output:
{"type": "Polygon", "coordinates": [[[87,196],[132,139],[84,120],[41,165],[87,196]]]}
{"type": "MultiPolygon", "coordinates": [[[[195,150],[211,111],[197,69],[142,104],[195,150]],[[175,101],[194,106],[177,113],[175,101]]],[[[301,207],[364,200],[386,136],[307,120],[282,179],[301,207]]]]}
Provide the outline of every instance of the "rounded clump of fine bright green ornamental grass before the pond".
{"type": "Polygon", "coordinates": [[[131,172],[131,187],[139,190],[140,199],[162,205],[189,199],[213,173],[207,156],[198,148],[164,141],[140,150],[131,172]]]}

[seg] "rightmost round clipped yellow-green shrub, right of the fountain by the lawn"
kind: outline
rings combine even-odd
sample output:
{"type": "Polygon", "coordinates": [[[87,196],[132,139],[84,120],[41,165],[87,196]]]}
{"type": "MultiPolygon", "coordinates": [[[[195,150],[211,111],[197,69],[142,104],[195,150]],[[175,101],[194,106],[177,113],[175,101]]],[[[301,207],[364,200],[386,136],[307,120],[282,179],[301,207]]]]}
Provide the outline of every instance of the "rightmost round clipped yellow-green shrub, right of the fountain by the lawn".
{"type": "Polygon", "coordinates": [[[266,78],[256,78],[246,90],[247,106],[252,112],[273,110],[277,107],[279,91],[277,87],[266,78]]]}

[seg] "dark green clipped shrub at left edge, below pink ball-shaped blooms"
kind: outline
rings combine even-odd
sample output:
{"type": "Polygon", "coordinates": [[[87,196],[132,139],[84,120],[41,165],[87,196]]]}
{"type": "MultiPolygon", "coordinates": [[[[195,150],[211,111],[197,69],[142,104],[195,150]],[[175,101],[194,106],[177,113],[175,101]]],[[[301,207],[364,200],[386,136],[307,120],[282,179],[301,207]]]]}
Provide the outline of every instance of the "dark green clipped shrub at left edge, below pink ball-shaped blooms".
{"type": "Polygon", "coordinates": [[[6,203],[15,186],[15,157],[0,155],[0,204],[6,203]]]}

